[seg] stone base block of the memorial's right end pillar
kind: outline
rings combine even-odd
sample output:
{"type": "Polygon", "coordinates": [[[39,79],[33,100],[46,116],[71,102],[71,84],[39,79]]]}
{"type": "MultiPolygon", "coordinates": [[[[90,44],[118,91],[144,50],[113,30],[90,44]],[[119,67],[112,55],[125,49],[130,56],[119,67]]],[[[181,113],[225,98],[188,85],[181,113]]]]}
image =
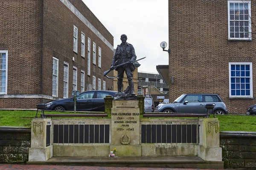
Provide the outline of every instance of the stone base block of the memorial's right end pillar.
{"type": "Polygon", "coordinates": [[[222,161],[222,148],[198,145],[198,157],[205,161],[222,161]]]}

